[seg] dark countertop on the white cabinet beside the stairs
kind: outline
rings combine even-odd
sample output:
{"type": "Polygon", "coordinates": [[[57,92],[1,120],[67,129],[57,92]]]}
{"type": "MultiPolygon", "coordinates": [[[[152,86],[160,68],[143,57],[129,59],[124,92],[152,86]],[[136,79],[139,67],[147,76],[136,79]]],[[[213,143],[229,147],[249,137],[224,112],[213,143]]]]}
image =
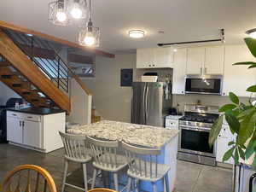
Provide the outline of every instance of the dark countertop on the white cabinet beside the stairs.
{"type": "Polygon", "coordinates": [[[55,108],[21,108],[21,109],[7,108],[6,110],[20,112],[20,113],[39,114],[39,115],[47,115],[47,114],[65,112],[62,109],[55,109],[55,108]]]}

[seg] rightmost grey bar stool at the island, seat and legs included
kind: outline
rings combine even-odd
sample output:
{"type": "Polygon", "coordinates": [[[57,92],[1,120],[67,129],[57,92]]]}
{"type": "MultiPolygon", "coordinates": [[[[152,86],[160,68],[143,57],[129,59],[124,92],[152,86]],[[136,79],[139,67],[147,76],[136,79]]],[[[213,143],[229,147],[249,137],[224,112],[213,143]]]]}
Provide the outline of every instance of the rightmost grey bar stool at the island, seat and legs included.
{"type": "MultiPolygon", "coordinates": [[[[125,156],[129,166],[127,171],[127,192],[131,189],[132,178],[136,179],[137,188],[139,188],[140,180],[151,182],[154,192],[157,192],[156,182],[161,179],[163,189],[169,192],[168,171],[171,167],[157,163],[160,149],[139,148],[124,142],[122,147],[125,149],[125,156]]],[[[140,189],[137,189],[137,191],[140,191],[140,189]]]]}

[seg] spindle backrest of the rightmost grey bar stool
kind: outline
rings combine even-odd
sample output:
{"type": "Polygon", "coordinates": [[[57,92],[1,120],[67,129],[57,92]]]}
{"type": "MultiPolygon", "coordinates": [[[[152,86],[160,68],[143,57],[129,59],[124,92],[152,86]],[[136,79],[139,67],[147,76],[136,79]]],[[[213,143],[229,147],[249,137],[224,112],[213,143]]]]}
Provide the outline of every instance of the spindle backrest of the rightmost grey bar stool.
{"type": "Polygon", "coordinates": [[[158,176],[158,148],[141,148],[128,143],[122,143],[129,169],[143,177],[158,176]]]}

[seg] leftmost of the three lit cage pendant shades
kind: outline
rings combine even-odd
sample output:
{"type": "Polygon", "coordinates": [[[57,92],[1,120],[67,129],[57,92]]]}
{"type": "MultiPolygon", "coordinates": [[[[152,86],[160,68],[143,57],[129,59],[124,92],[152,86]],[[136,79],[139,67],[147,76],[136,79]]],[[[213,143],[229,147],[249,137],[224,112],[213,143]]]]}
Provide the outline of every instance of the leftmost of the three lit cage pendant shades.
{"type": "Polygon", "coordinates": [[[49,21],[57,26],[71,24],[71,20],[67,14],[67,4],[64,0],[49,3],[49,21]]]}

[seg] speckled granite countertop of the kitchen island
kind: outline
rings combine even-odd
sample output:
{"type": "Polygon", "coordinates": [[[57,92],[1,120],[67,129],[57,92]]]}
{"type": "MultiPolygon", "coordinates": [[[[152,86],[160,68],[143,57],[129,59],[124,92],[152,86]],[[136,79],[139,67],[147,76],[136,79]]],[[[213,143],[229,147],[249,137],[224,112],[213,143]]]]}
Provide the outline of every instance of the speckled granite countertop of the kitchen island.
{"type": "Polygon", "coordinates": [[[166,130],[165,128],[150,125],[102,120],[95,124],[78,125],[67,130],[67,132],[108,140],[118,140],[119,142],[124,141],[150,148],[160,148],[171,141],[173,137],[176,137],[179,131],[166,130]]]}

